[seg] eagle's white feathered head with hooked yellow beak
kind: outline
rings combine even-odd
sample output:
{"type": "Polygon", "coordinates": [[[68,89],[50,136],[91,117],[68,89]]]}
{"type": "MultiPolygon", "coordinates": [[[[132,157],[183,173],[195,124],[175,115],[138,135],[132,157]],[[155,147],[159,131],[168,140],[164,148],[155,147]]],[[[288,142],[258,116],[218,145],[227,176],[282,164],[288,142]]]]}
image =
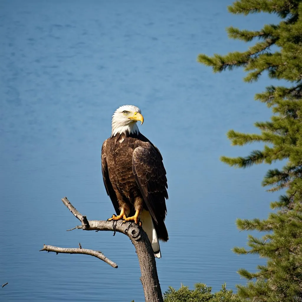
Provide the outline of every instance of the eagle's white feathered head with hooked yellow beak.
{"type": "Polygon", "coordinates": [[[144,122],[140,108],[133,105],[123,105],[115,110],[111,121],[111,136],[117,133],[140,133],[137,127],[137,121],[144,122]]]}

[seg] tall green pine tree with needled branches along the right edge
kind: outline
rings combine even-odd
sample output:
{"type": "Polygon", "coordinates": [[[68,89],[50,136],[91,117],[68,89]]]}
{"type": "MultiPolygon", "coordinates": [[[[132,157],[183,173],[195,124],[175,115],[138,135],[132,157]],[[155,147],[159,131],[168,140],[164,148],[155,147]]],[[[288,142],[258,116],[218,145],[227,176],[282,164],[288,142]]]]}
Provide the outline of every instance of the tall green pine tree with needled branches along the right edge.
{"type": "Polygon", "coordinates": [[[245,52],[225,56],[201,54],[198,61],[211,66],[214,72],[243,67],[247,72],[245,82],[258,80],[265,71],[271,79],[288,82],[287,87],[269,86],[255,95],[272,110],[270,121],[255,123],[261,134],[234,130],[227,133],[233,145],[264,142],[263,149],[246,157],[221,157],[230,166],[241,168],[286,160],[281,170],[268,170],[262,182],[263,186],[270,186],[268,191],[284,189],[279,200],[271,203],[275,211],[265,220],[237,220],[240,230],[258,230],[264,235],[249,235],[249,249],[235,247],[234,252],[267,259],[266,265],[259,265],[255,273],[239,270],[248,282],[246,286],[237,285],[238,294],[253,302],[302,301],[302,1],[241,0],[228,9],[244,15],[274,13],[281,21],[265,25],[260,31],[229,27],[230,38],[256,40],[255,45],[245,52]]]}

